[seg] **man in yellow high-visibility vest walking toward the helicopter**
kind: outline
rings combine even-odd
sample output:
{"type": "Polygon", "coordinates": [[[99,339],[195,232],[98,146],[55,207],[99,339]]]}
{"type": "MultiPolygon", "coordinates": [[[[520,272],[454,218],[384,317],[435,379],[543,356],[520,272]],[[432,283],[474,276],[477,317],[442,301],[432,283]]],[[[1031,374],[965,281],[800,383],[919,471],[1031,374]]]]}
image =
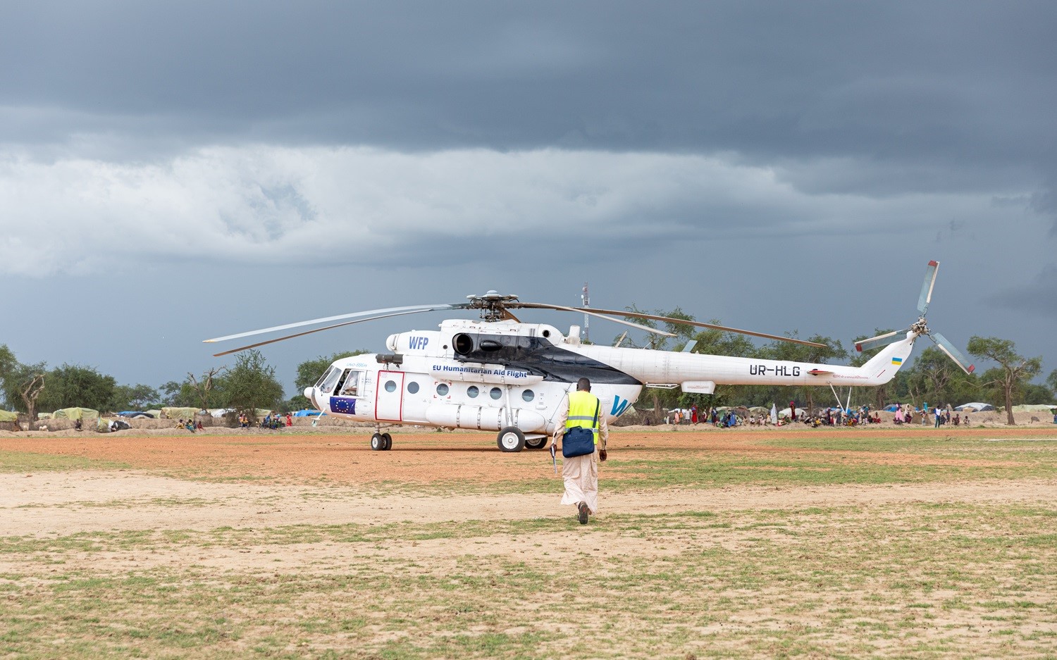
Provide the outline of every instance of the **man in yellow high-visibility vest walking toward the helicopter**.
{"type": "Polygon", "coordinates": [[[580,456],[565,456],[568,447],[562,446],[561,477],[565,482],[565,492],[561,504],[576,505],[580,525],[588,524],[589,513],[598,513],[598,461],[606,460],[606,441],[609,426],[601,412],[601,402],[591,394],[591,381],[580,378],[576,381],[576,392],[570,392],[565,404],[558,411],[554,444],[562,439],[572,429],[586,429],[593,435],[593,448],[580,456]],[[600,437],[599,437],[600,436],[600,437]],[[598,440],[601,440],[601,445],[598,440]]]}

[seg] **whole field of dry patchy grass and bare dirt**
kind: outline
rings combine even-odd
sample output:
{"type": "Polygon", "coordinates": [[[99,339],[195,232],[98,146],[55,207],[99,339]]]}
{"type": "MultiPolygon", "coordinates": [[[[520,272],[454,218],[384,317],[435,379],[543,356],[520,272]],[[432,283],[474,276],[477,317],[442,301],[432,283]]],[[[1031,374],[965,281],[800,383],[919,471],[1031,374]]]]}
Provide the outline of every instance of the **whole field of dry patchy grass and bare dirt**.
{"type": "Polygon", "coordinates": [[[0,657],[1057,657],[1057,429],[171,433],[0,437],[0,657]]]}

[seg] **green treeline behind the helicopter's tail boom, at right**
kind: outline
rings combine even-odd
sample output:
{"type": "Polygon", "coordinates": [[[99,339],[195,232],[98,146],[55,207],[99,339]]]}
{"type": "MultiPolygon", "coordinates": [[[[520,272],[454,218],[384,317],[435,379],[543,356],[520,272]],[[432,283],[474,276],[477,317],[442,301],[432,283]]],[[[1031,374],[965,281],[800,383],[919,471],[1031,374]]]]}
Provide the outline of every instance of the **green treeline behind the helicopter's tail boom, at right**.
{"type": "MultiPolygon", "coordinates": [[[[630,312],[643,312],[634,306],[630,312]]],[[[655,316],[666,316],[687,321],[696,320],[676,307],[669,312],[656,310],[655,316]]],[[[654,321],[630,319],[642,325],[659,327],[654,321]]],[[[709,323],[720,325],[719,320],[709,323]]],[[[682,351],[687,343],[694,341],[691,353],[710,355],[728,355],[767,360],[789,360],[795,362],[841,363],[859,366],[865,364],[882,348],[866,353],[849,352],[839,339],[814,335],[808,341],[824,344],[824,347],[806,346],[784,341],[773,341],[757,346],[744,335],[725,333],[716,329],[701,331],[692,325],[664,323],[660,329],[665,329],[675,337],[649,335],[646,344],[639,347],[682,351]]],[[[876,334],[891,332],[892,328],[877,328],[876,334]]],[[[797,333],[787,334],[797,338],[797,333]]],[[[634,345],[625,342],[622,345],[634,345]]],[[[958,406],[968,401],[984,401],[995,407],[1006,409],[1021,403],[1053,403],[1054,392],[1057,391],[1057,370],[1051,372],[1044,383],[1034,382],[1042,370],[1042,358],[1025,358],[1017,353],[1014,342],[997,337],[972,337],[969,339],[968,353],[977,358],[994,364],[982,373],[967,375],[939,347],[928,339],[919,340],[914,351],[913,365],[903,367],[890,382],[876,388],[856,388],[852,392],[852,406],[869,403],[877,409],[888,403],[903,402],[921,407],[924,401],[929,404],[951,403],[958,406]]],[[[848,389],[841,393],[841,401],[847,402],[848,389]]],[[[719,385],[712,397],[702,394],[684,394],[679,389],[645,390],[639,397],[638,407],[653,408],[657,415],[661,411],[673,408],[689,408],[697,404],[699,409],[711,406],[764,406],[769,408],[777,403],[779,408],[796,401],[798,406],[813,408],[816,406],[835,406],[836,399],[829,386],[765,386],[765,385],[719,385]]],[[[1012,414],[1009,415],[1012,423],[1012,414]]]]}

